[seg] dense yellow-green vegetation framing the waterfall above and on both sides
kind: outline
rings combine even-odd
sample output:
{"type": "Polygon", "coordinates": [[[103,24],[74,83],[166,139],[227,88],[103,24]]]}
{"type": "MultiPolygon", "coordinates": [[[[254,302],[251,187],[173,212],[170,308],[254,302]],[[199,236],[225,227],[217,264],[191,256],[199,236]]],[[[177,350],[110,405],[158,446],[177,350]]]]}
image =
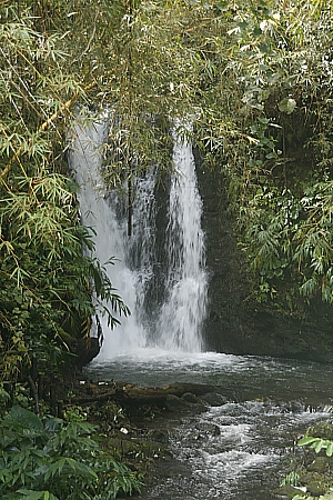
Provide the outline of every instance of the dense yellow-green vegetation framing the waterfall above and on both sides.
{"type": "Polygon", "coordinates": [[[128,181],[129,212],[133,176],[152,159],[168,170],[170,121],[191,114],[203,161],[226,179],[252,297],[293,313],[333,301],[331,2],[0,7],[2,380],[32,357],[58,373],[94,316],[112,327],[128,313],[78,218],[79,109],[112,110],[104,176],[128,181]]]}

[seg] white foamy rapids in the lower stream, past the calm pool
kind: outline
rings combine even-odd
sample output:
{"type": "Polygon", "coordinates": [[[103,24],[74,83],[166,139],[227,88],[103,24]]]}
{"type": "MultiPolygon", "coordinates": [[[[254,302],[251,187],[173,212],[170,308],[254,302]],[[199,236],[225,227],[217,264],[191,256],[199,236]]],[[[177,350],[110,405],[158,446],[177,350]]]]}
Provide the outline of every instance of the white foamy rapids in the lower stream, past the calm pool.
{"type": "Polygon", "coordinates": [[[230,402],[183,418],[171,431],[171,450],[186,463],[183,474],[163,478],[144,496],[171,499],[266,500],[284,473],[283,460],[306,426],[330,419],[274,401],[230,402]],[[216,432],[215,429],[220,431],[216,432]]]}

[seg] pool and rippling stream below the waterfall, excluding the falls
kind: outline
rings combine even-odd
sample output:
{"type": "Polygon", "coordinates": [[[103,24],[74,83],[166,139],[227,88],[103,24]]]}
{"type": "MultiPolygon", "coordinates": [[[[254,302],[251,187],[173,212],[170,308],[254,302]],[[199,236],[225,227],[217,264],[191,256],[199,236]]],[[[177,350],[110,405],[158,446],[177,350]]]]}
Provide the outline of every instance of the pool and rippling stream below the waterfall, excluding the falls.
{"type": "Polygon", "coordinates": [[[175,458],[144,500],[273,500],[297,437],[331,419],[333,368],[223,353],[138,350],[85,370],[92,380],[213,384],[208,411],[165,423],[175,458]],[[211,398],[211,401],[210,401],[211,398]],[[218,429],[218,432],[216,432],[218,429]]]}

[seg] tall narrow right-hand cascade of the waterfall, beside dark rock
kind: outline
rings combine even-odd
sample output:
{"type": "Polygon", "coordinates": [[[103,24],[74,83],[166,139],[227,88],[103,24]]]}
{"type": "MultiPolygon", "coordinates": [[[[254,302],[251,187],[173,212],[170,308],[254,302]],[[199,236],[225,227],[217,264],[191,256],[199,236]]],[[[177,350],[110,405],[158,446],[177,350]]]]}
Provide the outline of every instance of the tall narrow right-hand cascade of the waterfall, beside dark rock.
{"type": "Polygon", "coordinates": [[[206,306],[202,202],[189,142],[173,133],[173,163],[168,232],[168,299],[160,317],[161,342],[167,349],[202,350],[202,319],[206,306]]]}

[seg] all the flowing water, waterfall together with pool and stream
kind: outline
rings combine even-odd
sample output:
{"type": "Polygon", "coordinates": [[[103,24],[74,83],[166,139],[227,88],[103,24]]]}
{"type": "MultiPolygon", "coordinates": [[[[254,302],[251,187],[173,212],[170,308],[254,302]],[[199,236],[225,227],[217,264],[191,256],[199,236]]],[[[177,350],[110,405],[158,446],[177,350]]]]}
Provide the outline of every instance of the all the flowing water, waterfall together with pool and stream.
{"type": "Polygon", "coordinates": [[[208,279],[191,144],[173,131],[175,173],[162,229],[157,166],[137,179],[129,239],[124,201],[108,192],[101,178],[107,134],[107,120],[74,128],[71,167],[81,187],[82,220],[95,231],[95,256],[102,263],[118,258],[110,277],[132,314],[114,331],[104,324],[102,351],[85,376],[142,386],[214,386],[205,412],[170,426],[175,466],[142,499],[269,500],[297,434],[330,419],[333,368],[204,352],[208,279]]]}

